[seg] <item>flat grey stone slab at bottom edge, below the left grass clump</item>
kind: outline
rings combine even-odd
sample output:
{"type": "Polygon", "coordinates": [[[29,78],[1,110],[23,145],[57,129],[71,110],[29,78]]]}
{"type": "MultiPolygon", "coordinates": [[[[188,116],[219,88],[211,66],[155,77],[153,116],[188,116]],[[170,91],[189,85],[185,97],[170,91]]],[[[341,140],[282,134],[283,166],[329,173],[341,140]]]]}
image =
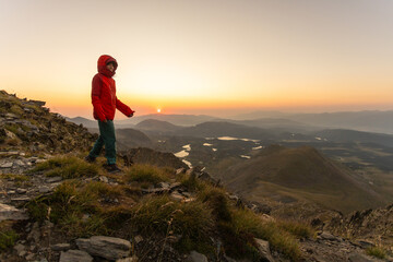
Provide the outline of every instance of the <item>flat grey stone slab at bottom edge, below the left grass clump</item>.
{"type": "Polygon", "coordinates": [[[131,243],[124,239],[94,236],[88,239],[76,239],[78,247],[92,255],[105,258],[107,260],[116,261],[118,259],[127,258],[131,251],[131,243]]]}

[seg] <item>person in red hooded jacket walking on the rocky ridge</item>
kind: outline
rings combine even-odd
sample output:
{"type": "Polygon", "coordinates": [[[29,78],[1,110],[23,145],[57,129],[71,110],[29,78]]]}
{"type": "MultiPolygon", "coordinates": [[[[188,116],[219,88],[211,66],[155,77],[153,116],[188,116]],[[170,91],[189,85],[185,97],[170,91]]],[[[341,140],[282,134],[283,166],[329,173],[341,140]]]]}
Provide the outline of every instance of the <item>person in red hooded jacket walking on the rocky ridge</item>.
{"type": "Polygon", "coordinates": [[[98,73],[92,83],[92,104],[93,116],[98,120],[99,136],[85,160],[94,163],[105,146],[106,169],[108,172],[119,172],[121,169],[116,165],[115,112],[118,109],[127,117],[132,117],[134,111],[116,97],[116,82],[112,79],[118,68],[116,59],[103,55],[98,58],[97,68],[98,73]]]}

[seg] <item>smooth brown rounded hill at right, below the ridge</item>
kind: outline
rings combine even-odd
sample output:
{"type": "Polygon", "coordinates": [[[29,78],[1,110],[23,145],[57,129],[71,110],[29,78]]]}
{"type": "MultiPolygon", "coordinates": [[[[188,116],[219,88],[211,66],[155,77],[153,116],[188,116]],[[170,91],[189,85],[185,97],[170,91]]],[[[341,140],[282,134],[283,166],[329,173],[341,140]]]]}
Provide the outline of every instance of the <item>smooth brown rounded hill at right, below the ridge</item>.
{"type": "Polygon", "coordinates": [[[381,206],[374,189],[312,147],[270,146],[251,159],[223,169],[218,177],[247,199],[309,201],[344,213],[381,206]]]}

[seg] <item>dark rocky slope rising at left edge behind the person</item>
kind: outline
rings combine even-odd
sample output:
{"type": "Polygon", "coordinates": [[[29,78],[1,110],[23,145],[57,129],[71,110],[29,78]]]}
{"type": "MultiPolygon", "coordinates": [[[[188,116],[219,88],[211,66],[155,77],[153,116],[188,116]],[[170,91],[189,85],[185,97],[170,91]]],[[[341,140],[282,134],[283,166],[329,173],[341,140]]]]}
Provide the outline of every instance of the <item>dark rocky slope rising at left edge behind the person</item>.
{"type": "Polygon", "coordinates": [[[0,93],[0,142],[29,153],[69,153],[91,146],[95,135],[87,129],[49,112],[44,102],[20,99],[0,93]]]}

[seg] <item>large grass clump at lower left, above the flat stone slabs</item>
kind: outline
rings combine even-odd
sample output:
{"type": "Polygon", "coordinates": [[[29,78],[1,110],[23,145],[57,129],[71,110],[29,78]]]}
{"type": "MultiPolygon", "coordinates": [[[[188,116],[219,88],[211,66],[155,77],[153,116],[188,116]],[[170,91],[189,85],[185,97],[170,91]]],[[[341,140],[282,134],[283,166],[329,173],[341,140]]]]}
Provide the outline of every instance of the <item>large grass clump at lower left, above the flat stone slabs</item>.
{"type": "Polygon", "coordinates": [[[99,206],[99,200],[107,184],[76,181],[61,183],[51,195],[38,198],[27,204],[29,215],[36,221],[49,219],[71,237],[88,237],[108,234],[106,216],[99,206]]]}

